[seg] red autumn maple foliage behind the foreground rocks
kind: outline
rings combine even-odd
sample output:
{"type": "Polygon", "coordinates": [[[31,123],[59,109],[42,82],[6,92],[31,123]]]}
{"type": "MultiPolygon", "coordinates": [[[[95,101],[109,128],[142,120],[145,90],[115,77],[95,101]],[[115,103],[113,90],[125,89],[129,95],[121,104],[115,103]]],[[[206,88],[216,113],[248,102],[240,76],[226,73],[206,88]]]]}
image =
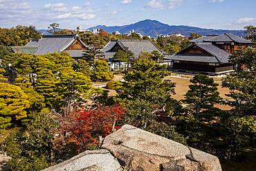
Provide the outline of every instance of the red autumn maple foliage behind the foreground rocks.
{"type": "Polygon", "coordinates": [[[83,152],[99,146],[99,137],[105,137],[118,129],[118,120],[125,114],[120,105],[113,107],[98,106],[95,109],[82,107],[73,114],[60,119],[60,136],[56,138],[55,147],[74,145],[76,152],[83,152]]]}

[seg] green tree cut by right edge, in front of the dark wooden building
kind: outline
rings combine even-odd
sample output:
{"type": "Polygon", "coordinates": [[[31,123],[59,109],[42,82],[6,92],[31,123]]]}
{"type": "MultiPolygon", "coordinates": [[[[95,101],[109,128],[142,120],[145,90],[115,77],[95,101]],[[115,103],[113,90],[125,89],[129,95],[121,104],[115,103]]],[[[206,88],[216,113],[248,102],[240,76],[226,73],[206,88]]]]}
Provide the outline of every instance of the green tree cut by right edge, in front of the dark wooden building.
{"type": "Polygon", "coordinates": [[[248,70],[238,70],[223,79],[222,86],[230,89],[227,95],[228,105],[234,107],[236,115],[252,115],[256,113],[256,50],[248,48],[236,51],[230,56],[230,61],[248,64],[248,70]]]}

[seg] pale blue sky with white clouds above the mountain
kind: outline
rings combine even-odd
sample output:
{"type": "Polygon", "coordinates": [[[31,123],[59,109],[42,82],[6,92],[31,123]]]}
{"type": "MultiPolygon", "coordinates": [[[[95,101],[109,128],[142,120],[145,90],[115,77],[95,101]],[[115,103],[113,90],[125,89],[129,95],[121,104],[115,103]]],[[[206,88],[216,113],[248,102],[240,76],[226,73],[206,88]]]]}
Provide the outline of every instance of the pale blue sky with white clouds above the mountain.
{"type": "Polygon", "coordinates": [[[256,0],[0,0],[0,28],[122,26],[144,19],[169,25],[243,29],[256,25],[256,0]]]}

